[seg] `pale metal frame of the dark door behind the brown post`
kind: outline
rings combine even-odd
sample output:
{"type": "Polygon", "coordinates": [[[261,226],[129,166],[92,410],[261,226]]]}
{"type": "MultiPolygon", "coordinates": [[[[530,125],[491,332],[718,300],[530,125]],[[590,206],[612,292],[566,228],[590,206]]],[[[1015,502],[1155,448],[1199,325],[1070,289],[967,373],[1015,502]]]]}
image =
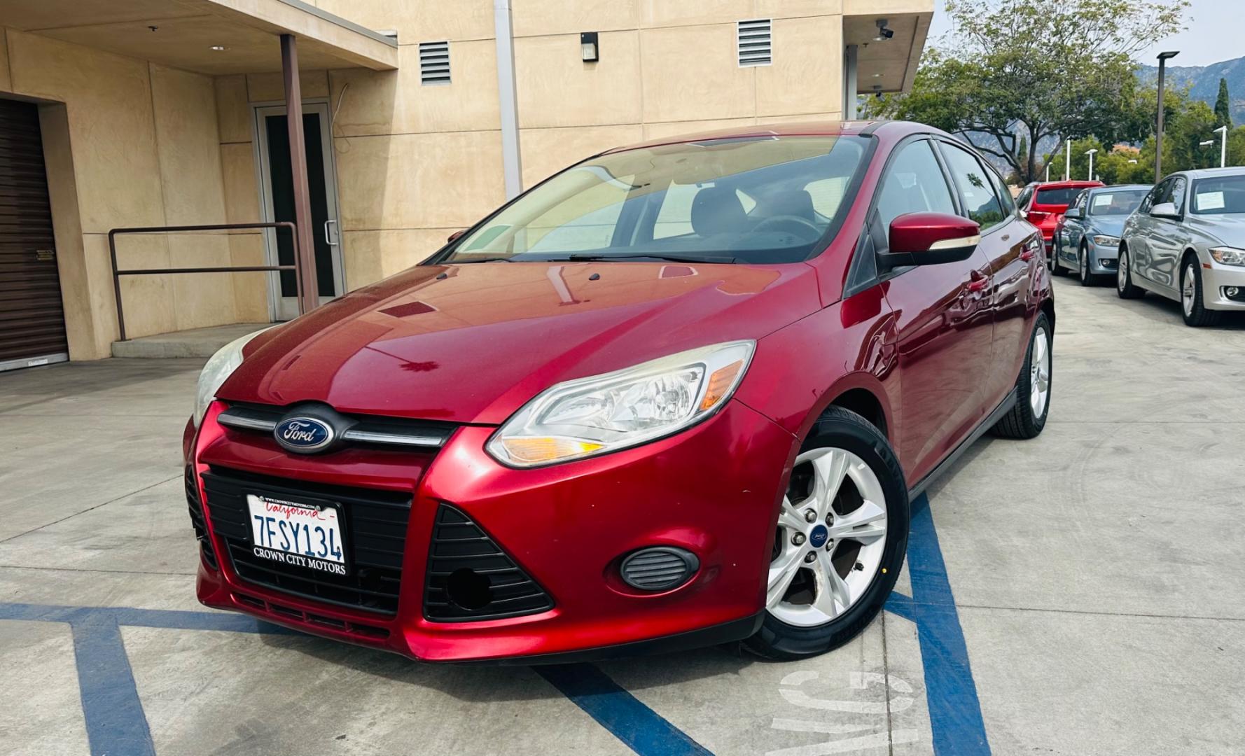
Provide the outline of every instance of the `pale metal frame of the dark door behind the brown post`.
{"type": "MultiPolygon", "coordinates": [[[[250,130],[251,130],[251,152],[255,159],[255,176],[259,188],[259,215],[260,220],[264,223],[273,223],[276,220],[273,212],[273,181],[271,172],[269,171],[269,152],[268,152],[268,132],[264,128],[264,116],[285,115],[285,101],[264,101],[264,102],[250,102],[250,130]]],[[[344,262],[342,250],[342,234],[341,234],[341,202],[337,194],[337,162],[336,162],[336,149],[332,144],[332,107],[327,97],[309,97],[303,101],[303,113],[319,113],[321,117],[321,139],[320,149],[324,156],[324,186],[327,194],[326,203],[329,209],[329,218],[334,220],[335,232],[334,239],[335,244],[331,247],[332,255],[332,285],[336,290],[334,296],[321,296],[320,301],[329,301],[346,293],[346,269],[344,262]]],[[[263,229],[264,237],[264,259],[268,265],[276,265],[278,263],[278,245],[276,245],[276,229],[263,229]]],[[[316,234],[330,233],[324,228],[312,228],[311,237],[316,238],[316,234]]],[[[298,315],[298,304],[294,298],[281,296],[281,278],[280,273],[273,272],[268,274],[268,314],[269,318],[276,323],[280,320],[291,320],[298,315]],[[290,301],[283,301],[290,300],[290,301]]]]}

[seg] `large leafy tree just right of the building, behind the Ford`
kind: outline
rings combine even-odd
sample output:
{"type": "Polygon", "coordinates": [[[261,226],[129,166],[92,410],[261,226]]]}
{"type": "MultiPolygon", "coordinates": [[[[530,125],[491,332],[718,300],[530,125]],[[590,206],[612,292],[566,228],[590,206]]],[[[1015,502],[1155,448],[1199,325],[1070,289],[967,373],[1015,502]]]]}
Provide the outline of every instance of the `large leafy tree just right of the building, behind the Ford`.
{"type": "Polygon", "coordinates": [[[883,97],[870,111],[962,135],[1033,181],[1043,167],[1037,159],[1043,139],[1143,136],[1132,55],[1177,32],[1188,6],[1188,0],[947,0],[949,39],[926,52],[910,93],[883,97]]]}

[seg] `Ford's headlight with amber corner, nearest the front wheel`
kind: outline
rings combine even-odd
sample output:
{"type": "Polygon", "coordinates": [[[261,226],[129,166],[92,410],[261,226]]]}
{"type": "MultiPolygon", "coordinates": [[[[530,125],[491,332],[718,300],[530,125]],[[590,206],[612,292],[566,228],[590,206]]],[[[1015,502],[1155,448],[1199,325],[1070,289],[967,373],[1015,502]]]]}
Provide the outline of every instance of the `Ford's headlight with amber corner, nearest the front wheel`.
{"type": "Polygon", "coordinates": [[[558,384],[493,433],[488,453],[534,467],[669,436],[726,404],[754,349],[756,341],[730,341],[558,384]]]}

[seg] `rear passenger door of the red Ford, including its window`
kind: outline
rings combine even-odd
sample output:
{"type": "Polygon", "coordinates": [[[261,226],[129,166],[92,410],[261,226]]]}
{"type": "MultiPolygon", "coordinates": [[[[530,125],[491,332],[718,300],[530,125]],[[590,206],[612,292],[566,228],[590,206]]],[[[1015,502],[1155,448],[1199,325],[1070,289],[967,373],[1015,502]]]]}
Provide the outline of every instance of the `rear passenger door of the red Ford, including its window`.
{"type": "Polygon", "coordinates": [[[1042,264],[1042,242],[1027,223],[1020,222],[1011,197],[992,168],[975,154],[951,142],[939,147],[960,192],[965,215],[981,225],[977,252],[987,260],[990,284],[984,305],[994,319],[989,355],[979,355],[981,409],[992,411],[1016,385],[1020,362],[1028,345],[1030,291],[1036,268],[1042,264]]]}

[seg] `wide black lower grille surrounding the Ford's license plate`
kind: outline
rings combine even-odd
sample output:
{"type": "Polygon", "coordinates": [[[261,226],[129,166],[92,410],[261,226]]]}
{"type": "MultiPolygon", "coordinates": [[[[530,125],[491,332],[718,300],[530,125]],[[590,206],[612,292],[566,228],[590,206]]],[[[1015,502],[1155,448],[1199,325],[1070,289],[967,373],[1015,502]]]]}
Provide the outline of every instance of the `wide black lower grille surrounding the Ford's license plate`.
{"type": "Polygon", "coordinates": [[[391,491],[324,486],[213,467],[203,475],[212,529],[229,546],[244,580],[317,602],[393,614],[402,580],[402,550],[411,496],[391,491]],[[327,499],[341,504],[347,575],[311,572],[251,554],[247,494],[327,499]]]}

